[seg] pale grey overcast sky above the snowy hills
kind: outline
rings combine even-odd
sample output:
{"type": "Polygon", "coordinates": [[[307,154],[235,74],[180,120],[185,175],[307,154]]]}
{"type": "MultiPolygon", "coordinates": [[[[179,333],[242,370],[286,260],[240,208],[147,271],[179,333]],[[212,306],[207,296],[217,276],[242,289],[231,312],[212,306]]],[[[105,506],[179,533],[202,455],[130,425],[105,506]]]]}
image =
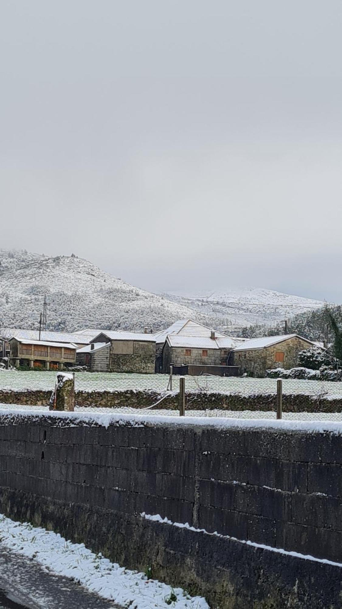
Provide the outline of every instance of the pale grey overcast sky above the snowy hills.
{"type": "Polygon", "coordinates": [[[341,0],[2,0],[0,247],[342,302],[341,0]]]}

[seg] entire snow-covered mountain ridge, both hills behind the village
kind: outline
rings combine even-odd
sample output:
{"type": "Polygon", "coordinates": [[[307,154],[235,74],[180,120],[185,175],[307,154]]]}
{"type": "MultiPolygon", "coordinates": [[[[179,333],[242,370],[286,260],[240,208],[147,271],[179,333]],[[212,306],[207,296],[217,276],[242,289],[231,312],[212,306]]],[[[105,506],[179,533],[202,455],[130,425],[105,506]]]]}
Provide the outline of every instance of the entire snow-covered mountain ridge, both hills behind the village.
{"type": "Polygon", "coordinates": [[[228,334],[255,323],[273,325],[324,305],[319,300],[260,288],[156,295],[131,286],[77,256],[52,258],[26,250],[0,250],[0,327],[39,325],[47,296],[47,329],[153,331],[194,319],[228,334]]]}

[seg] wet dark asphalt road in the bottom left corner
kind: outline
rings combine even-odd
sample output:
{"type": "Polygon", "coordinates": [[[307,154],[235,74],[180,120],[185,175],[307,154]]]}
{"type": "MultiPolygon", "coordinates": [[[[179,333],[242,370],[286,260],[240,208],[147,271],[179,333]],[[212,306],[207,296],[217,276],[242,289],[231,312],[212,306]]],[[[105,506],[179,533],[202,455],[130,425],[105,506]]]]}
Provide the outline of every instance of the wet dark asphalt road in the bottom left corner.
{"type": "Polygon", "coordinates": [[[120,609],[0,544],[0,609],[120,609]]]}

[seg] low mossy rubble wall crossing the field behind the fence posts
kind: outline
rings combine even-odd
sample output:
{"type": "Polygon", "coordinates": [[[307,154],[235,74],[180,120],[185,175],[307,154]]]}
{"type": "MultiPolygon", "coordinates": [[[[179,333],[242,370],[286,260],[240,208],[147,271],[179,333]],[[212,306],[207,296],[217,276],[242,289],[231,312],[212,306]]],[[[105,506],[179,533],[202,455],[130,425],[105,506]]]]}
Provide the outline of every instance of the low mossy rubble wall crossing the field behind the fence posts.
{"type": "MultiPolygon", "coordinates": [[[[24,404],[44,406],[49,404],[51,391],[44,390],[1,390],[0,404],[24,404]]],[[[76,391],[77,406],[117,408],[145,408],[159,401],[161,393],[153,390],[125,391],[76,391]]],[[[341,412],[341,398],[327,399],[324,396],[302,394],[288,395],[282,398],[284,412],[341,412]]],[[[226,395],[217,392],[187,392],[186,401],[191,410],[263,410],[276,412],[276,393],[269,395],[226,395]]],[[[177,393],[169,393],[156,408],[178,410],[177,393]]]]}

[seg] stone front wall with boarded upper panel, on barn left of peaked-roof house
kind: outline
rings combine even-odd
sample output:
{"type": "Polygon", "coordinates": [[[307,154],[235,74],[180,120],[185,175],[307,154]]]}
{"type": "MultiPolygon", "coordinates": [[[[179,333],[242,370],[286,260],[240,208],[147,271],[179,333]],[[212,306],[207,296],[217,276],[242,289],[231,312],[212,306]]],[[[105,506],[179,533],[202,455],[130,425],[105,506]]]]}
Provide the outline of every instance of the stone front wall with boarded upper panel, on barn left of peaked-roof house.
{"type": "Polygon", "coordinates": [[[153,374],[155,362],[156,343],[154,342],[111,341],[110,372],[153,374]]]}

